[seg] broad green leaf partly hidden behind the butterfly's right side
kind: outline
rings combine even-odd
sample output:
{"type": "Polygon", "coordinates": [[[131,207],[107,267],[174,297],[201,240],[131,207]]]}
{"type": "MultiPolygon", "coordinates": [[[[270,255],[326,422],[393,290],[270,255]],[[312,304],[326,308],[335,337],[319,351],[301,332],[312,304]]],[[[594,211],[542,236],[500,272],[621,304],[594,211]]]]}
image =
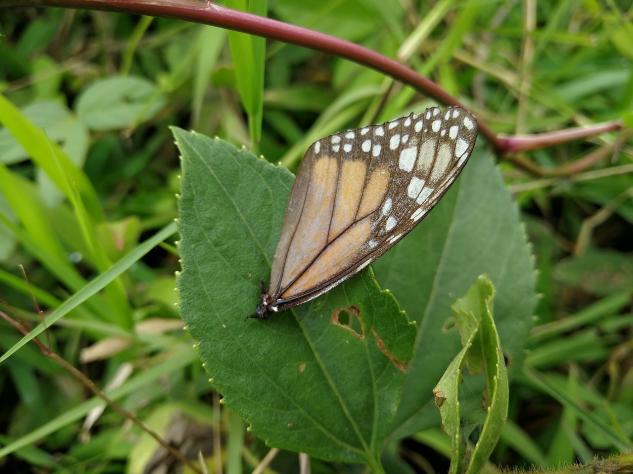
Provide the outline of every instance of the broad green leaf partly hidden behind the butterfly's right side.
{"type": "Polygon", "coordinates": [[[399,437],[439,422],[432,389],[461,349],[458,332],[447,325],[449,308],[480,274],[494,284],[494,319],[510,376],[520,369],[536,278],[517,207],[480,143],[436,209],[373,268],[419,328],[392,428],[399,437]]]}

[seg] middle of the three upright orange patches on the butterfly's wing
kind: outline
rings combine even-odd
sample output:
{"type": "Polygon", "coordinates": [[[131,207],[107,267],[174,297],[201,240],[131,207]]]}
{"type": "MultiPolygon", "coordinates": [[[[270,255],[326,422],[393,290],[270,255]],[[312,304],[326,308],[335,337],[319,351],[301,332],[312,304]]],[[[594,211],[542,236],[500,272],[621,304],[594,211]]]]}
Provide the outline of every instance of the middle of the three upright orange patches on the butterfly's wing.
{"type": "Polygon", "coordinates": [[[363,195],[367,165],[362,161],[344,161],[336,190],[334,215],[327,241],[331,242],[356,219],[356,209],[363,195]]]}

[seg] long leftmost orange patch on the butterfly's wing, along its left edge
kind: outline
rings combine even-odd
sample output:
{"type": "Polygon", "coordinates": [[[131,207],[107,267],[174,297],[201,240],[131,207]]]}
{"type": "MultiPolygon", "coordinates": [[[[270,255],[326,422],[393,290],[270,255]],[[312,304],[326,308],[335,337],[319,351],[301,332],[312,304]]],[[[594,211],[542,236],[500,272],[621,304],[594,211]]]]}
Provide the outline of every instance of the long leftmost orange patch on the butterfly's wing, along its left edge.
{"type": "Polygon", "coordinates": [[[327,156],[318,159],[312,168],[301,219],[288,250],[281,288],[290,284],[327,245],[327,230],[334,206],[332,188],[336,185],[338,169],[337,160],[327,156]]]}

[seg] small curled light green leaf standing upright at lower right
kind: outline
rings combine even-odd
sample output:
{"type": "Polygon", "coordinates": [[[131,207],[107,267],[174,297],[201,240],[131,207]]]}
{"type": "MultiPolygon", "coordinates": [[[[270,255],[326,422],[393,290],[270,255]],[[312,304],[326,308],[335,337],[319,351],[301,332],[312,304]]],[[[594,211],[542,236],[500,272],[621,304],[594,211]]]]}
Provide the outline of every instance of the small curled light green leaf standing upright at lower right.
{"type": "Polygon", "coordinates": [[[478,412],[485,411],[486,418],[469,456],[467,473],[478,474],[484,468],[508,416],[508,376],[501,343],[492,320],[493,295],[491,281],[486,276],[480,276],[468,293],[452,307],[464,348],[453,359],[433,391],[442,425],[453,440],[449,473],[463,472],[463,465],[467,461],[466,441],[470,430],[475,427],[470,420],[480,418],[480,413],[463,412],[458,399],[464,363],[468,363],[471,374],[483,371],[486,380],[482,403],[475,406],[478,412]]]}

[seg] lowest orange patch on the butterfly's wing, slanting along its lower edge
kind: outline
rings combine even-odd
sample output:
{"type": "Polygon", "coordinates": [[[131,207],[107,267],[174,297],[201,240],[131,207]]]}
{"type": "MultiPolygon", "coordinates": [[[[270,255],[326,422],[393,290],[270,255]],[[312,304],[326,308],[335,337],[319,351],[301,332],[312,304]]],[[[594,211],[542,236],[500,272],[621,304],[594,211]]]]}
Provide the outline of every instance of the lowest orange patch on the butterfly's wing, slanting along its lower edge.
{"type": "Polygon", "coordinates": [[[356,254],[365,245],[372,221],[364,219],[356,222],[348,231],[330,243],[313,264],[288,288],[281,299],[303,295],[330,281],[356,262],[356,254]]]}

